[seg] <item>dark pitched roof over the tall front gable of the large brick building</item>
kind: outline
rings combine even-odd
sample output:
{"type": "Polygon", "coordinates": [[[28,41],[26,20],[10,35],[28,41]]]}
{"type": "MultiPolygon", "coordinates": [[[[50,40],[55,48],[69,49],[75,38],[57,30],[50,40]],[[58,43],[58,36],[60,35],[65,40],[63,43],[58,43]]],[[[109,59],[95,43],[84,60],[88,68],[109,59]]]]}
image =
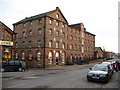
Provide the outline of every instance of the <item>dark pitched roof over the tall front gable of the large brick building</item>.
{"type": "Polygon", "coordinates": [[[47,16],[47,15],[53,13],[56,10],[58,10],[61,13],[61,15],[63,16],[63,18],[66,21],[66,23],[68,23],[67,20],[65,19],[64,15],[62,14],[61,10],[59,9],[59,7],[56,7],[55,10],[52,10],[52,11],[49,11],[49,12],[45,12],[45,13],[41,13],[41,14],[38,14],[38,15],[35,15],[35,16],[31,16],[31,17],[26,17],[25,19],[22,19],[22,20],[20,20],[20,21],[18,21],[16,23],[14,23],[13,25],[24,23],[24,22],[31,21],[31,20],[34,20],[34,19],[39,19],[41,17],[47,16]]]}

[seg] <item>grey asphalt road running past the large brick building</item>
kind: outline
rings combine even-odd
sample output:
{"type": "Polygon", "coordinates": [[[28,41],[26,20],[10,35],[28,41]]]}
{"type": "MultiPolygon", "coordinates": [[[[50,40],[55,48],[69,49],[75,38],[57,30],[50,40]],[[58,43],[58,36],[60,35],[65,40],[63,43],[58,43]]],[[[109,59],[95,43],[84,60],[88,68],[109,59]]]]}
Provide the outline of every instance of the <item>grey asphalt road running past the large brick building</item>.
{"type": "Polygon", "coordinates": [[[118,74],[115,72],[109,83],[88,82],[87,65],[58,66],[57,69],[33,69],[28,72],[2,73],[3,88],[118,88],[118,74]]]}

